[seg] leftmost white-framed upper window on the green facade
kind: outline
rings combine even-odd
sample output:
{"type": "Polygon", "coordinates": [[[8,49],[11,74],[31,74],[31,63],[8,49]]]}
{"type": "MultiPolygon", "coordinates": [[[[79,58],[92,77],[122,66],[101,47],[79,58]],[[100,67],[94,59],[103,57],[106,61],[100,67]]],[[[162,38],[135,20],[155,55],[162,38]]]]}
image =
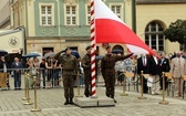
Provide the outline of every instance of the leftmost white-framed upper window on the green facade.
{"type": "Polygon", "coordinates": [[[52,6],[41,6],[41,24],[52,25],[52,6]]]}

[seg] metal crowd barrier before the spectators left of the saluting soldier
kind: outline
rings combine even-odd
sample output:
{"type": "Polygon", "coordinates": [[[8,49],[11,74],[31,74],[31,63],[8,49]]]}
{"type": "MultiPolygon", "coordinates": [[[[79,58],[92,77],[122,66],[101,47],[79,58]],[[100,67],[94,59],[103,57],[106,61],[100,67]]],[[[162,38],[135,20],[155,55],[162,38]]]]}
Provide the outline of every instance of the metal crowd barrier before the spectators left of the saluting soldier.
{"type": "MultiPolygon", "coordinates": [[[[37,88],[62,87],[63,84],[61,72],[62,68],[49,68],[49,70],[37,68],[35,73],[37,88]]],[[[1,89],[24,88],[24,73],[30,73],[30,68],[8,68],[7,73],[0,73],[0,88],[1,89]]],[[[31,80],[33,82],[33,77],[31,80]]],[[[33,85],[31,85],[30,87],[33,88],[33,85]]]]}

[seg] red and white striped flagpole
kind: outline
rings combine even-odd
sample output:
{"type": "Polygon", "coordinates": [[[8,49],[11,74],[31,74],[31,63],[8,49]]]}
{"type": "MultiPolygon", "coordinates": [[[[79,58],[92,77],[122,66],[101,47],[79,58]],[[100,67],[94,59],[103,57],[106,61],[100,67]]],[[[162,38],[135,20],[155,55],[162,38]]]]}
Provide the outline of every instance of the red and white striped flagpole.
{"type": "Polygon", "coordinates": [[[95,96],[95,23],[94,23],[94,0],[91,0],[91,78],[92,78],[92,96],[95,96]]]}

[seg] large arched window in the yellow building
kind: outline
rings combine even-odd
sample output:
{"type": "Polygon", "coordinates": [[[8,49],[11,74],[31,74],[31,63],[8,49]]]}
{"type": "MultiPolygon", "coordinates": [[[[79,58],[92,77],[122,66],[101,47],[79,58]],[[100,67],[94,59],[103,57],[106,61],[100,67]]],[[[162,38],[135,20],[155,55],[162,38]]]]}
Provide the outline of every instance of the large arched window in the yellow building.
{"type": "Polygon", "coordinates": [[[157,51],[164,51],[164,28],[157,21],[147,24],[145,29],[145,43],[157,51]]]}

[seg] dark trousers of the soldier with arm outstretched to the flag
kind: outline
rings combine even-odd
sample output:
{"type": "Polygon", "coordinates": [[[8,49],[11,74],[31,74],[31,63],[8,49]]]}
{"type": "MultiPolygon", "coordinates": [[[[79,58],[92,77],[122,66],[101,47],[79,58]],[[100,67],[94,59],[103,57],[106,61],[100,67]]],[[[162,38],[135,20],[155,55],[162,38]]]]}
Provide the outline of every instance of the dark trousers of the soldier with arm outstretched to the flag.
{"type": "Polygon", "coordinates": [[[106,76],[105,77],[105,87],[106,87],[106,96],[114,97],[115,76],[106,76]]]}

